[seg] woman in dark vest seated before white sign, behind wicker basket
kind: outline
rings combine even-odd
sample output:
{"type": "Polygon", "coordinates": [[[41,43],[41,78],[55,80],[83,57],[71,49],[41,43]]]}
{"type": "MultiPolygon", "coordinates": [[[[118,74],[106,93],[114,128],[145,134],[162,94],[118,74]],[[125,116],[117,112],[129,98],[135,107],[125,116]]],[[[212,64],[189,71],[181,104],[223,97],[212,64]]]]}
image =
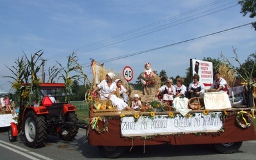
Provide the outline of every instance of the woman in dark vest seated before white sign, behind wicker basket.
{"type": "Polygon", "coordinates": [[[204,83],[200,83],[198,74],[194,74],[193,82],[188,86],[189,98],[200,97],[200,94],[205,92],[204,83]]]}

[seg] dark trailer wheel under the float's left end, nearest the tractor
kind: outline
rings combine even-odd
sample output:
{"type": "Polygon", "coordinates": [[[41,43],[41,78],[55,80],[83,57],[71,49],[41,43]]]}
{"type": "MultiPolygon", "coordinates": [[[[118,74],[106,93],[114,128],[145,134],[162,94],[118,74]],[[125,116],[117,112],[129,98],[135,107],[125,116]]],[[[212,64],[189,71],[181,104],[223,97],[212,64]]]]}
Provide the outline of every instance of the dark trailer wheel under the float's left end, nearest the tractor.
{"type": "Polygon", "coordinates": [[[108,158],[117,158],[124,154],[126,147],[124,146],[98,146],[100,154],[108,158]]]}

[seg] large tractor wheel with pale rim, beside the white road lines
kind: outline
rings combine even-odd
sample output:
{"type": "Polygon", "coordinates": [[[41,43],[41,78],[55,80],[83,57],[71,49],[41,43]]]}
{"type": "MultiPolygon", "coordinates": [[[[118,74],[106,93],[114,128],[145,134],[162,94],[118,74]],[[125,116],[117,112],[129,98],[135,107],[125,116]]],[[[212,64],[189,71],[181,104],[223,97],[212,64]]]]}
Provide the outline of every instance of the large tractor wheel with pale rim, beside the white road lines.
{"type": "Polygon", "coordinates": [[[44,116],[37,116],[33,111],[28,111],[22,126],[25,142],[29,147],[40,147],[46,140],[47,125],[44,116]]]}

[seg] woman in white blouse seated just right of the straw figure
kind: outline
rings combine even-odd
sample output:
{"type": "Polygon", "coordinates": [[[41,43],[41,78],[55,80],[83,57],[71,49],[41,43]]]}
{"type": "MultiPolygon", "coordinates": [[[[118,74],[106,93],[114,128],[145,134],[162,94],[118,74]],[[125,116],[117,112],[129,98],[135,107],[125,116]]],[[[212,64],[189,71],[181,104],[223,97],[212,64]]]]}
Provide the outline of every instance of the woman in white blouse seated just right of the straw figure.
{"type": "Polygon", "coordinates": [[[163,99],[165,102],[167,102],[169,106],[172,106],[173,95],[176,95],[176,89],[172,84],[172,79],[167,79],[166,85],[161,86],[155,95],[159,99],[163,99]]]}

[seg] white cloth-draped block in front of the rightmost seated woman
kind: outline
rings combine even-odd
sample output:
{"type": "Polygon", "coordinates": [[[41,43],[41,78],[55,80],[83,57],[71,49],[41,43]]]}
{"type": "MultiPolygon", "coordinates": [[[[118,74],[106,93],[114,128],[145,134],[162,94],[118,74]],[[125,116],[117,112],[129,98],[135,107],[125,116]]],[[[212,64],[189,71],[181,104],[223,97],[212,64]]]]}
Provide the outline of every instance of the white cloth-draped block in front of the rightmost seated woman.
{"type": "Polygon", "coordinates": [[[232,108],[226,92],[204,93],[205,109],[227,109],[232,108]]]}

